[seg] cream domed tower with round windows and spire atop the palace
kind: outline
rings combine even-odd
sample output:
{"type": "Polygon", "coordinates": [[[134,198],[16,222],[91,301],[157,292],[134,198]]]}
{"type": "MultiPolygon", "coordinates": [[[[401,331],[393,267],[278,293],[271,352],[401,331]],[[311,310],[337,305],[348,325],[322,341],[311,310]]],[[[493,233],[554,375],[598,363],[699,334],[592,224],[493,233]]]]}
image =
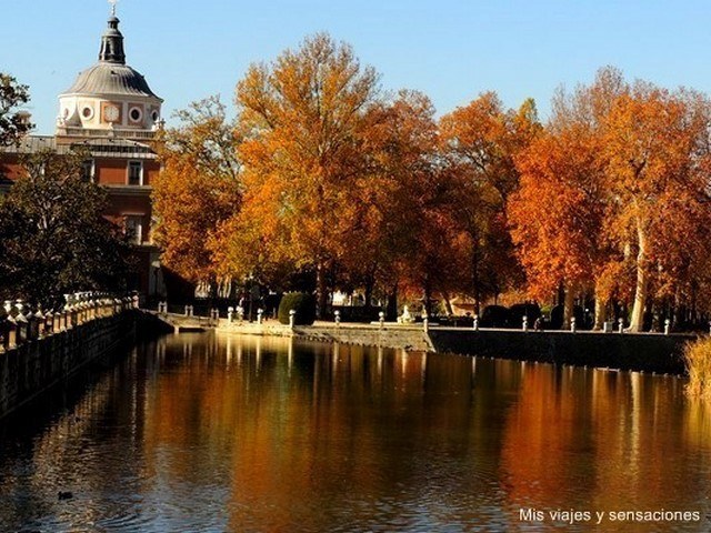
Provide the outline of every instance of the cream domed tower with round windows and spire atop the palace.
{"type": "Polygon", "coordinates": [[[146,78],[126,64],[114,6],[101,37],[99,61],[59,95],[58,142],[98,137],[150,140],[161,124],[162,102],[146,78]]]}

